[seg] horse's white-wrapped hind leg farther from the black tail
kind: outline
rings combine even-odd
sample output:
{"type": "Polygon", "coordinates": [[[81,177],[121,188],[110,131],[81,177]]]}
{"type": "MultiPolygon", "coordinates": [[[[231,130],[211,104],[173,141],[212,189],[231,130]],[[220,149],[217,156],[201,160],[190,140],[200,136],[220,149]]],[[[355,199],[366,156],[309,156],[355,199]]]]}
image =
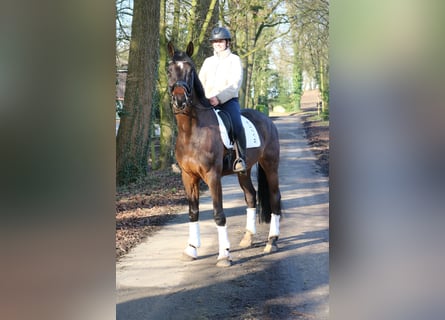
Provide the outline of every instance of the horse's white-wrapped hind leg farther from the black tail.
{"type": "Polygon", "coordinates": [[[240,247],[247,248],[252,245],[252,236],[256,233],[256,191],[250,178],[251,169],[245,175],[238,175],[238,182],[244,191],[246,200],[246,232],[241,239],[240,247]]]}

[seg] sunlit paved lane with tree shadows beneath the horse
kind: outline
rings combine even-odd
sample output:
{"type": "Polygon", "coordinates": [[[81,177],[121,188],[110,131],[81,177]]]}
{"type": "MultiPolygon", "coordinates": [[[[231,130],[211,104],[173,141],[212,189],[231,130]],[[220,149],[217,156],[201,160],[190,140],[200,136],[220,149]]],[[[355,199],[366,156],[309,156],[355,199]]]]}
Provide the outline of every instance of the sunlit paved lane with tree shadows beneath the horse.
{"type": "Polygon", "coordinates": [[[117,263],[117,319],[328,319],[328,178],[317,172],[299,117],[274,122],[281,143],[280,250],[263,254],[265,224],[257,225],[252,248],[238,246],[244,197],[236,177],[224,177],[233,265],[215,266],[218,236],[204,193],[200,258],[180,259],[188,238],[187,214],[181,214],[117,263]]]}

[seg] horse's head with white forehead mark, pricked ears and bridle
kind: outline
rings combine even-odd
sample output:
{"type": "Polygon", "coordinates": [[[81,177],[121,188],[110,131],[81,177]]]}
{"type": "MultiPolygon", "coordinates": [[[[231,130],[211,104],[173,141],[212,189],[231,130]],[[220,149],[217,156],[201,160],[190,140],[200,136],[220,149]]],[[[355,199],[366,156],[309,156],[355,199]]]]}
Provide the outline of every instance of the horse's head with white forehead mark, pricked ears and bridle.
{"type": "Polygon", "coordinates": [[[194,65],[191,59],[193,43],[190,42],[186,52],[175,50],[171,42],[168,43],[170,61],[167,67],[168,90],[172,99],[175,113],[185,112],[192,103],[194,85],[194,65]]]}

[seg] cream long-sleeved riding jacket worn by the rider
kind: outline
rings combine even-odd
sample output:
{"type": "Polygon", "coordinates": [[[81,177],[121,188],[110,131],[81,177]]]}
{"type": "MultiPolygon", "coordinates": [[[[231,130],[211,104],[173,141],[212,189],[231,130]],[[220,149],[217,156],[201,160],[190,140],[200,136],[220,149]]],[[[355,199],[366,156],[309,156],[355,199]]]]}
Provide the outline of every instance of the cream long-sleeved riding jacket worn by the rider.
{"type": "Polygon", "coordinates": [[[199,79],[204,87],[207,99],[217,97],[220,103],[225,103],[238,97],[238,91],[243,80],[241,59],[229,48],[204,60],[199,79]]]}

